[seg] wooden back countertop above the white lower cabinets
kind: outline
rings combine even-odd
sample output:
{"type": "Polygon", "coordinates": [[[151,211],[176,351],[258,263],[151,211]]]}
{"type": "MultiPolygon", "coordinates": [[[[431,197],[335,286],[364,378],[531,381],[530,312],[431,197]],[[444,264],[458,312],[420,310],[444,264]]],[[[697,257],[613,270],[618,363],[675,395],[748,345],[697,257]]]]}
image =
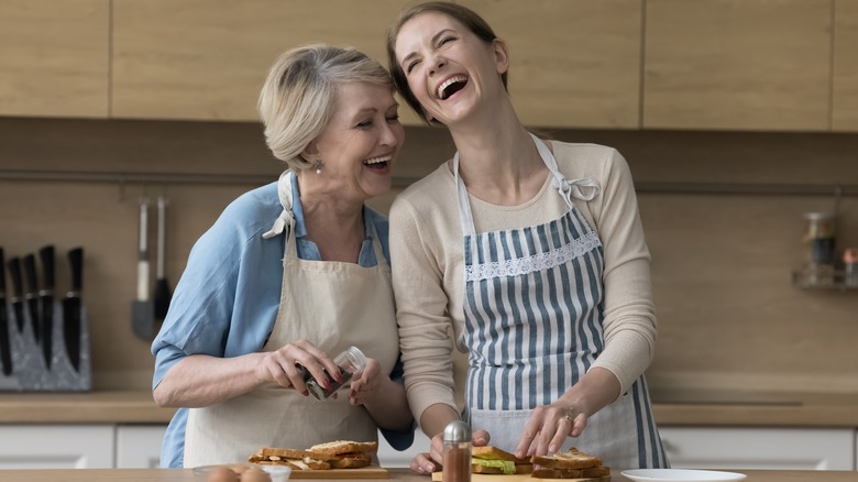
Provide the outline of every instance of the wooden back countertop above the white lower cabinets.
{"type": "MultiPolygon", "coordinates": [[[[858,394],[652,393],[660,426],[858,427],[858,394]]],[[[167,424],[147,391],[0,394],[0,424],[167,424]]]]}

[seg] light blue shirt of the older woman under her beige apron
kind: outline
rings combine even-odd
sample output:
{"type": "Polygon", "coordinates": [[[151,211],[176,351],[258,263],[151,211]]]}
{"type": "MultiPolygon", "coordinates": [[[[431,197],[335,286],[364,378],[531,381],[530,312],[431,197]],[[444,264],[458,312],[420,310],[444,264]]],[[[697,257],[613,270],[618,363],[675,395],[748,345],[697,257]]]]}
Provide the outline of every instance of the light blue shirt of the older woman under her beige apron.
{"type": "MultiPolygon", "coordinates": [[[[306,239],[298,183],[295,176],[289,177],[298,258],[321,260],[316,243],[306,239]]],[[[152,343],[153,388],[174,364],[190,354],[231,358],[262,350],[279,308],[286,238],[263,239],[262,234],[282,211],[276,182],[256,188],[232,201],[194,245],[167,317],[152,343]]],[[[374,232],[389,263],[387,218],[369,207],[363,212],[366,238],[359,264],[377,264],[374,232]]],[[[391,376],[402,383],[400,362],[391,376]]],[[[179,408],[169,423],[161,448],[161,467],[183,467],[187,419],[188,408],[179,408]]],[[[414,439],[414,431],[382,434],[397,450],[407,449],[414,439]]]]}

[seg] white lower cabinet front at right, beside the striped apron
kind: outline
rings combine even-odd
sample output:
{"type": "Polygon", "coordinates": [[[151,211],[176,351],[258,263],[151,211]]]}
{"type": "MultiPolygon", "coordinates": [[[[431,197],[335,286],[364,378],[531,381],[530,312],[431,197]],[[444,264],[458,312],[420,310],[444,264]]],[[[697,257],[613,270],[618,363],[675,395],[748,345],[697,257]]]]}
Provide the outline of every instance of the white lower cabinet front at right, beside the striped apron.
{"type": "Polygon", "coordinates": [[[853,428],[660,427],[674,469],[856,470],[853,428]]]}

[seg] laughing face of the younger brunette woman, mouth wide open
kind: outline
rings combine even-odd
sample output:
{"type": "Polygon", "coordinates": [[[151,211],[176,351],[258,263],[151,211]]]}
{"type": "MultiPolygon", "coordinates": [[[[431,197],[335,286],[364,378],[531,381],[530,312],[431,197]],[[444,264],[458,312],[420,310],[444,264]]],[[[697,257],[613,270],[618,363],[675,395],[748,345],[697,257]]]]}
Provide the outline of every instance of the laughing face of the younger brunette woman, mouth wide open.
{"type": "Polygon", "coordinates": [[[427,119],[466,119],[483,99],[505,95],[506,44],[486,42],[458,20],[427,11],[405,23],[394,44],[396,63],[427,119]]]}

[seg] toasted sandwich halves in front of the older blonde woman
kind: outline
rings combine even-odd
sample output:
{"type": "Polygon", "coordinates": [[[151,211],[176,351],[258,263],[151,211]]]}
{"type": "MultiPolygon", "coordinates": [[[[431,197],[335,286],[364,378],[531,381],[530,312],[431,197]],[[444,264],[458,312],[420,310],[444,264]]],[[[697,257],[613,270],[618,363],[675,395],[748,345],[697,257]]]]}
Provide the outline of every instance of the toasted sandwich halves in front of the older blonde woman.
{"type": "Polygon", "coordinates": [[[263,447],[248,459],[251,463],[287,465],[293,470],[360,469],[372,463],[378,442],[337,440],[307,450],[263,447]]]}

